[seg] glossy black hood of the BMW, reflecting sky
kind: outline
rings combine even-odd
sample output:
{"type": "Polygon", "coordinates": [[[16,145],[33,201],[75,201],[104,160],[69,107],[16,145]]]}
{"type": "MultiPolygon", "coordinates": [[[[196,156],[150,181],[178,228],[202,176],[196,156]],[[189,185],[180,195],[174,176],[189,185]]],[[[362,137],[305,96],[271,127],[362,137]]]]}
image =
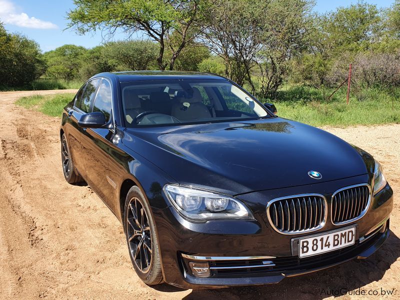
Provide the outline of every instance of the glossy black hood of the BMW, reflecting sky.
{"type": "Polygon", "coordinates": [[[229,194],[315,184],[373,167],[368,153],[337,136],[279,117],[127,128],[122,142],[180,184],[229,194]],[[311,178],[310,170],[322,178],[311,178]]]}

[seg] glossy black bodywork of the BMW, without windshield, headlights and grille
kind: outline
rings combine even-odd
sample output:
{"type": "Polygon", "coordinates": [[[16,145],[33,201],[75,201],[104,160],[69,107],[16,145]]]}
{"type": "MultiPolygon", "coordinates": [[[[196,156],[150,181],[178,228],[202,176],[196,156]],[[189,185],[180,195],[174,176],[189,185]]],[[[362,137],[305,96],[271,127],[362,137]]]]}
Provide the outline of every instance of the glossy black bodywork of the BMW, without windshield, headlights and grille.
{"type": "MultiPolygon", "coordinates": [[[[151,206],[163,275],[170,284],[191,288],[277,282],[284,276],[263,273],[255,277],[196,278],[183,271],[180,253],[291,255],[290,240],[299,235],[283,235],[271,228],[265,211],[269,200],[316,192],[326,197],[329,209],[330,197],[336,189],[365,182],[373,185],[374,160],[367,152],[323,130],[271,113],[270,118],[245,122],[125,127],[121,82],[185,78],[226,80],[223,77],[168,71],[100,73],[94,77],[108,80],[111,85],[109,122],[99,128],[79,126],[78,120],[84,113],[72,100],[62,113],[60,134],[67,136],[75,171],[120,221],[127,190],[132,185],[140,188],[151,206]],[[322,173],[322,179],[310,178],[309,170],[322,173]],[[255,220],[190,222],[167,200],[162,190],[166,183],[236,196],[250,208],[255,220]]],[[[356,222],[357,237],[386,218],[392,205],[392,190],[386,184],[372,197],[366,215],[356,222]]],[[[316,233],[340,227],[331,224],[329,219],[328,213],[328,221],[316,233]]],[[[366,257],[380,246],[387,234],[382,233],[362,253],[352,253],[351,257],[337,258],[334,263],[298,269],[287,275],[325,268],[352,257],[366,257]]]]}

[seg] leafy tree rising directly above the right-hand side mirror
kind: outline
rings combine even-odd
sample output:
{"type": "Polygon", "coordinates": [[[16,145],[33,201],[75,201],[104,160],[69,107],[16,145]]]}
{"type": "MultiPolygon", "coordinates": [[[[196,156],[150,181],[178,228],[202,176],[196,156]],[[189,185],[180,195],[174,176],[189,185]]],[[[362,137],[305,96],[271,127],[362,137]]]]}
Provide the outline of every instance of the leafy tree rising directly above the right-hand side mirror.
{"type": "Polygon", "coordinates": [[[262,49],[257,53],[262,95],[275,96],[289,71],[290,60],[312,43],[309,35],[312,5],[309,0],[270,0],[268,3],[260,26],[262,49]]]}

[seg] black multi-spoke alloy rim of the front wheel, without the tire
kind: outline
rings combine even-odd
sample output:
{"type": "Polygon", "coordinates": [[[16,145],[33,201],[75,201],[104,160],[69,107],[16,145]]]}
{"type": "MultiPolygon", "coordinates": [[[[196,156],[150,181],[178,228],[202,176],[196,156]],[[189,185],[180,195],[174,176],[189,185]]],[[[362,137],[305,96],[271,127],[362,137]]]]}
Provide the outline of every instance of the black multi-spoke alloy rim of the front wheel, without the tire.
{"type": "Polygon", "coordinates": [[[147,273],[152,260],[151,231],[144,207],[136,197],[129,200],[126,222],[129,251],[134,264],[141,272],[147,273]]]}

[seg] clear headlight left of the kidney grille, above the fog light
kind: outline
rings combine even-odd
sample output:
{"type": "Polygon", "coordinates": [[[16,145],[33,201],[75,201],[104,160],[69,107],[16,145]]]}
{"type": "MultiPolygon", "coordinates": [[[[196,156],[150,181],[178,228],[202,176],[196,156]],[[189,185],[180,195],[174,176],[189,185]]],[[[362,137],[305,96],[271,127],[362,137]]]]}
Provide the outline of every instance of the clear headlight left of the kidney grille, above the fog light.
{"type": "Polygon", "coordinates": [[[164,191],[176,210],[192,220],[253,219],[250,210],[233,197],[172,184],[166,184],[164,191]]]}

